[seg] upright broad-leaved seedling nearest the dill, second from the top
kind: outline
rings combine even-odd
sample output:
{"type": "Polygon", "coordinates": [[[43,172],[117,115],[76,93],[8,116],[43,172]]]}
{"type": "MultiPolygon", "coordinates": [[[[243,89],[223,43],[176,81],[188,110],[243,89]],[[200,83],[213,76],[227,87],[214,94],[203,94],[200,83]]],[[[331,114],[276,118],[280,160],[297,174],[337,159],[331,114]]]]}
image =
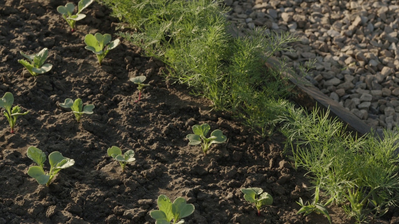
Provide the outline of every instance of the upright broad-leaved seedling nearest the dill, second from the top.
{"type": "Polygon", "coordinates": [[[104,35],[101,33],[96,33],[95,35],[87,34],[85,36],[85,43],[87,44],[85,48],[96,54],[101,65],[101,61],[107,56],[108,52],[119,45],[119,39],[111,41],[111,35],[108,33],[104,35]]]}

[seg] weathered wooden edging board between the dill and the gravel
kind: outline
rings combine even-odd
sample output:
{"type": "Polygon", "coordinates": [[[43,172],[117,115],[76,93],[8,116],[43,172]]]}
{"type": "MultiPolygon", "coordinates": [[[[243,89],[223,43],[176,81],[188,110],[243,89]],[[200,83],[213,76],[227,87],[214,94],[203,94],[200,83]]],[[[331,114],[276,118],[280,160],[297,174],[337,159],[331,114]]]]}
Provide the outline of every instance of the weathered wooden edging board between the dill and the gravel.
{"type": "MultiPolygon", "coordinates": [[[[275,57],[269,57],[266,66],[271,69],[282,69],[280,61],[275,57]]],[[[360,118],[341,106],[338,102],[326,96],[326,94],[320,92],[318,88],[304,77],[298,76],[292,70],[288,70],[287,72],[283,72],[283,75],[288,77],[289,81],[295,85],[295,90],[299,94],[294,97],[294,100],[299,105],[306,107],[308,110],[312,110],[312,108],[316,106],[322,111],[329,108],[330,116],[333,118],[337,117],[341,122],[347,125],[346,130],[352,132],[354,135],[358,134],[358,136],[363,136],[371,131],[371,128],[360,120],[360,118]]]]}

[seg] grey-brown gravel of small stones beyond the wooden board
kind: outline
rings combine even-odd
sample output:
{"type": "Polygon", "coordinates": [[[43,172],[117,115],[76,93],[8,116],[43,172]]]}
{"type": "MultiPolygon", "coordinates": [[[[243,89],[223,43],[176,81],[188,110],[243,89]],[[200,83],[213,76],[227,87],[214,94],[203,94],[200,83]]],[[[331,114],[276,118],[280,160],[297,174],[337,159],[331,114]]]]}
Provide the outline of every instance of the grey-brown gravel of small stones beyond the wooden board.
{"type": "Polygon", "coordinates": [[[399,124],[399,1],[224,0],[240,33],[265,26],[301,39],[279,52],[298,70],[316,59],[310,80],[369,126],[399,124]]]}

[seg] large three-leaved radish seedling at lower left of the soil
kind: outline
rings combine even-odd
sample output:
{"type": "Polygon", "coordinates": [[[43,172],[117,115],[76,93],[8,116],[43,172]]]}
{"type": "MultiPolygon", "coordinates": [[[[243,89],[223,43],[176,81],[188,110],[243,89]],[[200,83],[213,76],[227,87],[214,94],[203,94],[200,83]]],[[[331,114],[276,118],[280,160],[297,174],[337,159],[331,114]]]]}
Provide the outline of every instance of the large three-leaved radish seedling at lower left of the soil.
{"type": "Polygon", "coordinates": [[[46,161],[46,155],[40,149],[30,146],[26,151],[29,159],[32,159],[38,166],[32,166],[28,169],[28,175],[38,181],[39,184],[46,185],[47,187],[55,177],[55,175],[61,170],[73,166],[75,161],[67,157],[63,157],[61,153],[55,151],[50,153],[50,171],[44,172],[43,164],[46,161]]]}

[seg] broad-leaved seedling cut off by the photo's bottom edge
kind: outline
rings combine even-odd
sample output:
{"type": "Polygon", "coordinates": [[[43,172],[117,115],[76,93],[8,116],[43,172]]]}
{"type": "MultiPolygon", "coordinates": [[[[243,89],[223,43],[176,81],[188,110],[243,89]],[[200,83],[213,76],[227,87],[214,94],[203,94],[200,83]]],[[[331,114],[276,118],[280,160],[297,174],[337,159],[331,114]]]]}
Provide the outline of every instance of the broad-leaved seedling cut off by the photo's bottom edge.
{"type": "Polygon", "coordinates": [[[158,208],[150,212],[151,218],[156,220],[155,224],[172,224],[172,220],[173,224],[182,224],[184,220],[180,219],[191,215],[195,209],[193,204],[187,204],[182,197],[176,198],[172,204],[166,195],[158,197],[158,208]]]}

